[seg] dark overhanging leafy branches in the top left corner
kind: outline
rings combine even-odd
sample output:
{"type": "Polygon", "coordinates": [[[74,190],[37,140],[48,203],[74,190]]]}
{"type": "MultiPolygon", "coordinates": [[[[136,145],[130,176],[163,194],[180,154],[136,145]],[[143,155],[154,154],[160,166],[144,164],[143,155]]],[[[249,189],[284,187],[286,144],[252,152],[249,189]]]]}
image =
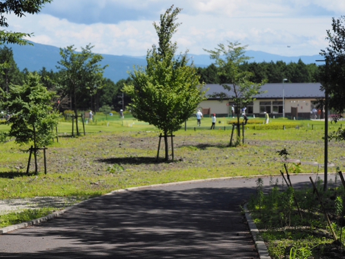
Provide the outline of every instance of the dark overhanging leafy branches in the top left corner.
{"type": "MultiPolygon", "coordinates": [[[[4,14],[14,13],[17,17],[25,16],[26,14],[37,14],[42,6],[46,3],[51,3],[52,0],[5,0],[0,2],[0,26],[7,28],[7,18],[4,14]]],[[[26,45],[28,41],[24,37],[30,37],[32,34],[25,32],[9,32],[7,30],[0,30],[0,43],[20,44],[26,45]]]]}

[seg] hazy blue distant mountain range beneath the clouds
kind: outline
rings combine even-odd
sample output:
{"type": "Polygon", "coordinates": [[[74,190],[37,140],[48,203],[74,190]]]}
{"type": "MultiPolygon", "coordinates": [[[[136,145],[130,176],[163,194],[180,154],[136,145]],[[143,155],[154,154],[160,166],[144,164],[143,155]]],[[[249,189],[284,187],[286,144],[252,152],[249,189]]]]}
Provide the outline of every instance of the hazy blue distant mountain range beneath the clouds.
{"type": "MultiPolygon", "coordinates": [[[[43,67],[47,70],[56,71],[57,61],[61,60],[59,54],[60,49],[54,46],[48,46],[43,44],[34,44],[34,46],[19,46],[8,45],[8,48],[12,48],[14,61],[20,70],[28,68],[29,71],[39,71],[43,67]]],[[[317,59],[323,59],[320,55],[313,56],[300,56],[300,57],[285,57],[280,55],[274,55],[262,51],[248,50],[246,52],[248,57],[253,57],[250,62],[276,62],[284,61],[286,63],[295,62],[301,59],[304,64],[313,64],[317,59]]],[[[146,56],[132,57],[132,56],[117,56],[117,55],[103,55],[104,59],[101,61],[102,65],[108,65],[105,70],[104,77],[107,77],[115,83],[120,79],[128,78],[128,71],[133,69],[133,66],[146,66],[146,56]]],[[[205,55],[189,55],[190,59],[193,59],[195,66],[207,67],[213,63],[210,56],[205,55]]]]}

